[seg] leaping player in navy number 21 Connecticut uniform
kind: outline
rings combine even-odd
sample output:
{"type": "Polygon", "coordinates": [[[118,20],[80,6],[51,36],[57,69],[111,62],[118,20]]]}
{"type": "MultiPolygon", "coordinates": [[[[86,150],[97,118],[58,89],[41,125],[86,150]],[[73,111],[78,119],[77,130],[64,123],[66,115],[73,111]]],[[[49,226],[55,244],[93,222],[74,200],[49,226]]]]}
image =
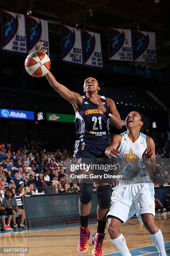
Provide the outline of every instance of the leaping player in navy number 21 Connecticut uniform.
{"type": "MultiPolygon", "coordinates": [[[[43,51],[43,44],[39,43],[38,51],[43,51]]],[[[76,134],[74,158],[103,158],[105,148],[109,144],[109,128],[112,122],[116,128],[122,128],[122,121],[116,109],[115,103],[110,98],[99,96],[99,84],[94,77],[88,77],[84,82],[85,96],[72,92],[64,85],[56,81],[51,72],[46,75],[52,88],[63,98],[68,100],[76,116],[76,134]]],[[[88,218],[90,214],[90,201],[92,199],[93,183],[80,182],[80,237],[77,250],[85,252],[88,249],[87,240],[90,236],[88,218]]],[[[110,206],[111,184],[106,182],[97,183],[97,233],[93,236],[94,248],[92,254],[102,255],[102,241],[105,237],[106,214],[110,206]]]]}

